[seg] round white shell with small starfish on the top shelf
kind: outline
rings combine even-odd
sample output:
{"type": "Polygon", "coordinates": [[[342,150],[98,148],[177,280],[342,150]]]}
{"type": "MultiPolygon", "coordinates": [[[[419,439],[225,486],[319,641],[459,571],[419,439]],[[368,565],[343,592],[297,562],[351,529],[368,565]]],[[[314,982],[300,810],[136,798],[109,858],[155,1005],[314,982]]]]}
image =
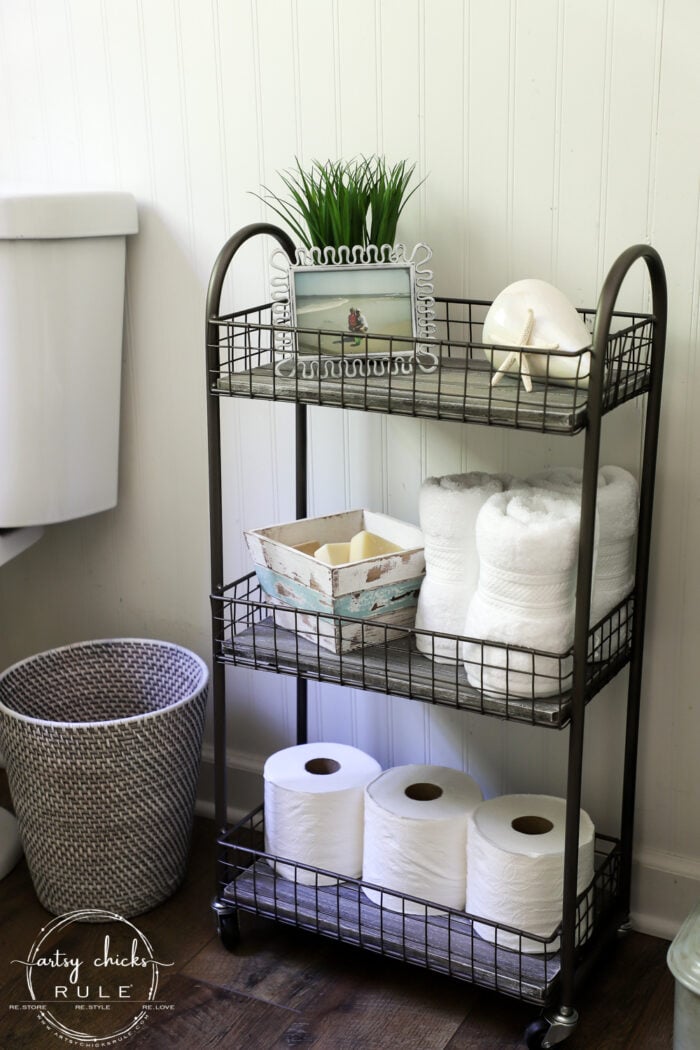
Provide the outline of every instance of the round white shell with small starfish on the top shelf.
{"type": "Polygon", "coordinates": [[[588,386],[591,355],[580,351],[591,335],[566,295],[546,280],[528,277],[504,288],[486,315],[483,342],[513,348],[484,351],[496,370],[493,386],[507,373],[519,373],[528,392],[533,378],[588,386]]]}

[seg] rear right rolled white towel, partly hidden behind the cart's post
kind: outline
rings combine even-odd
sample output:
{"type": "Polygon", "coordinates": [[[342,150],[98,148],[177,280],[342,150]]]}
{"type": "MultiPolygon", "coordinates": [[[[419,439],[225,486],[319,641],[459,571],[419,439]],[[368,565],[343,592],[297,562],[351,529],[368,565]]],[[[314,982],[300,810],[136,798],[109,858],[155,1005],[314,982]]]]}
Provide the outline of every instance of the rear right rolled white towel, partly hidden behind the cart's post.
{"type": "MultiPolygon", "coordinates": [[[[580,502],[582,471],[555,467],[532,475],[537,487],[565,492],[580,502]]],[[[639,488],[629,470],[603,466],[598,471],[597,543],[591,591],[591,626],[597,624],[634,586],[639,488]]],[[[592,659],[609,659],[627,640],[623,617],[616,613],[596,631],[589,649],[592,659]]]]}

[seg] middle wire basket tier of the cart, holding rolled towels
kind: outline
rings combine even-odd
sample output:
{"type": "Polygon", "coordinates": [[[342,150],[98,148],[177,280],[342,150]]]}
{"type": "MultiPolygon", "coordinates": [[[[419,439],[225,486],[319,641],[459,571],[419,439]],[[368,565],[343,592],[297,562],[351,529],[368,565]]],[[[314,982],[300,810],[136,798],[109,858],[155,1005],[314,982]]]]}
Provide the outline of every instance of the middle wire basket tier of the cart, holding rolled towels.
{"type": "MultiPolygon", "coordinates": [[[[623,600],[589,632],[587,699],[629,659],[633,604],[623,600]]],[[[550,653],[293,609],[270,598],[254,572],[212,596],[212,609],[222,663],[554,729],[571,717],[573,648],[550,653]],[[426,655],[438,642],[453,656],[426,655]]]]}

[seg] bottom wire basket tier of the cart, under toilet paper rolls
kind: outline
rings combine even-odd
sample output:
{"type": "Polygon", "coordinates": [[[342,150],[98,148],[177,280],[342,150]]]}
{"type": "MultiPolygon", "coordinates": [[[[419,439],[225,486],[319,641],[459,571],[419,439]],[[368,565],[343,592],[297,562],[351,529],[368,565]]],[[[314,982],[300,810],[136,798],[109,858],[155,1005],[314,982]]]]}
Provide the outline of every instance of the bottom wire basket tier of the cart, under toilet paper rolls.
{"type": "MultiPolygon", "coordinates": [[[[264,850],[259,806],[219,839],[219,899],[276,922],[533,1003],[559,972],[560,925],[543,937],[264,850]],[[280,864],[293,878],[279,873],[280,864]],[[527,948],[526,950],[523,950],[527,948]]],[[[619,844],[596,838],[596,873],[576,902],[579,952],[619,891],[619,844]]]]}

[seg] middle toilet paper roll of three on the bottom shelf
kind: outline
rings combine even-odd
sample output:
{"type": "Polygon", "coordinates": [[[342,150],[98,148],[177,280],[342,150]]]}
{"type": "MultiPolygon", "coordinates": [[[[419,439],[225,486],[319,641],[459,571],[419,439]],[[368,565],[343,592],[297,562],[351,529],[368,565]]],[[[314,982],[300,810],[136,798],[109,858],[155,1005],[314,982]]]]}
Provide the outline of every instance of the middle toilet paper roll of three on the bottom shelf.
{"type": "MultiPolygon", "coordinates": [[[[445,765],[386,770],[365,792],[363,881],[463,908],[467,821],[482,798],[475,780],[445,765]]],[[[394,911],[426,914],[412,901],[363,889],[394,911]]]]}

